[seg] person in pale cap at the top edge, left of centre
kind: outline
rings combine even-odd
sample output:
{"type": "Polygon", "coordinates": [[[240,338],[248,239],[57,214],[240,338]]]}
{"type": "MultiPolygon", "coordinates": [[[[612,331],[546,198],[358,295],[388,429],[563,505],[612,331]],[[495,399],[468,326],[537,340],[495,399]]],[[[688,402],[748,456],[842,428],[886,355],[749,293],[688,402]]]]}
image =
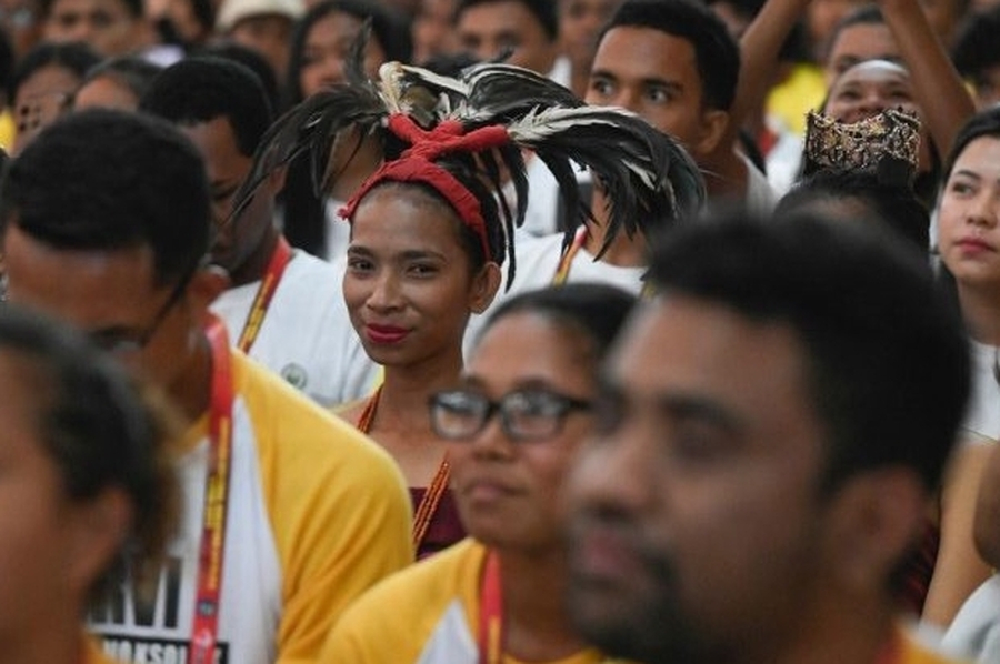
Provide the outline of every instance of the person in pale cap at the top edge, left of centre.
{"type": "Polygon", "coordinates": [[[304,12],[302,0],[224,0],[216,30],[263,56],[280,81],[288,70],[292,30],[304,12]]]}

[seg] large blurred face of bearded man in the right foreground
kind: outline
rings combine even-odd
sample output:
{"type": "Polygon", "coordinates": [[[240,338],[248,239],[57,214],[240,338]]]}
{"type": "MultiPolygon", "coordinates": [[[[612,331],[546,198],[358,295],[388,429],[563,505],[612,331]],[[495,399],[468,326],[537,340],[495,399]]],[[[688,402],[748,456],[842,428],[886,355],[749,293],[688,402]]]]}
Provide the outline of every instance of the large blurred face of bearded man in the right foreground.
{"type": "Polygon", "coordinates": [[[760,642],[796,628],[823,560],[801,346],[787,326],[686,298],[624,334],[569,483],[578,622],[650,661],[777,661],[760,642]]]}

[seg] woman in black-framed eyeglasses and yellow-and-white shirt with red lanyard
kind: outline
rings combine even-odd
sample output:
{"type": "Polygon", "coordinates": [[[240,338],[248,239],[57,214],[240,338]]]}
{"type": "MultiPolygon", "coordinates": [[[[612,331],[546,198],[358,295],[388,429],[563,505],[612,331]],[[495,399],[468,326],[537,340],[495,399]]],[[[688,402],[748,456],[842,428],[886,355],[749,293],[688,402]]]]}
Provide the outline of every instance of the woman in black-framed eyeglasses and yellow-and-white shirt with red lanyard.
{"type": "Polygon", "coordinates": [[[458,386],[430,400],[470,537],[360,598],[321,663],[604,661],[569,624],[558,493],[633,302],[572,283],[517,295],[491,315],[458,386]]]}

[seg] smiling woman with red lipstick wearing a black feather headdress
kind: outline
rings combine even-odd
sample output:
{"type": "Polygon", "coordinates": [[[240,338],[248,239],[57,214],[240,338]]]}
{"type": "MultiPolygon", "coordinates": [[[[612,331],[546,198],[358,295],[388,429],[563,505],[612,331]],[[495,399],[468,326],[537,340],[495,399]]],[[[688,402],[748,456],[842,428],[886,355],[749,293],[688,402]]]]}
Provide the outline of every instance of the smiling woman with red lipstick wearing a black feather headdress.
{"type": "MultiPolygon", "coordinates": [[[[458,79],[398,63],[372,83],[321,92],[286,114],[258,151],[241,198],[267,173],[309,151],[320,188],[337,173],[329,154],[344,129],[378,139],[382,165],[341,211],[351,222],[343,282],[351,322],[384,382],[341,415],[381,443],[402,467],[414,501],[418,555],[462,532],[447,491],[449,463],[427,401],[453,385],[462,336],[514,272],[514,229],[527,205],[521,150],[562,184],[564,208],[582,214],[572,162],[590,167],[608,192],[609,228],[673,219],[688,201],[674,183],[697,170],[671,139],[629,113],[581,105],[528,70],[478,64],[458,79]],[[502,190],[517,192],[509,205],[502,190]]],[[[578,220],[577,220],[578,221],[578,220]]]]}

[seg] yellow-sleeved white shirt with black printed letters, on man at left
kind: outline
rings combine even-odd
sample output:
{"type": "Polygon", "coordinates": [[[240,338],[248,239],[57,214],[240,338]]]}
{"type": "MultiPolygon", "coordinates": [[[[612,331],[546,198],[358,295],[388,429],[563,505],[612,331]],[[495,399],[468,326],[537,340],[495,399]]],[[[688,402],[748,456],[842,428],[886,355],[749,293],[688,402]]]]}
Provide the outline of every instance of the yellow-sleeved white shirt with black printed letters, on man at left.
{"type": "MultiPolygon", "coordinates": [[[[389,455],[233,350],[232,450],[218,661],[312,662],[362,592],[413,560],[410,499],[389,455]]],[[[187,660],[208,467],[207,417],[179,445],[180,532],[154,597],[113,593],[90,615],[124,662],[187,660]]]]}

